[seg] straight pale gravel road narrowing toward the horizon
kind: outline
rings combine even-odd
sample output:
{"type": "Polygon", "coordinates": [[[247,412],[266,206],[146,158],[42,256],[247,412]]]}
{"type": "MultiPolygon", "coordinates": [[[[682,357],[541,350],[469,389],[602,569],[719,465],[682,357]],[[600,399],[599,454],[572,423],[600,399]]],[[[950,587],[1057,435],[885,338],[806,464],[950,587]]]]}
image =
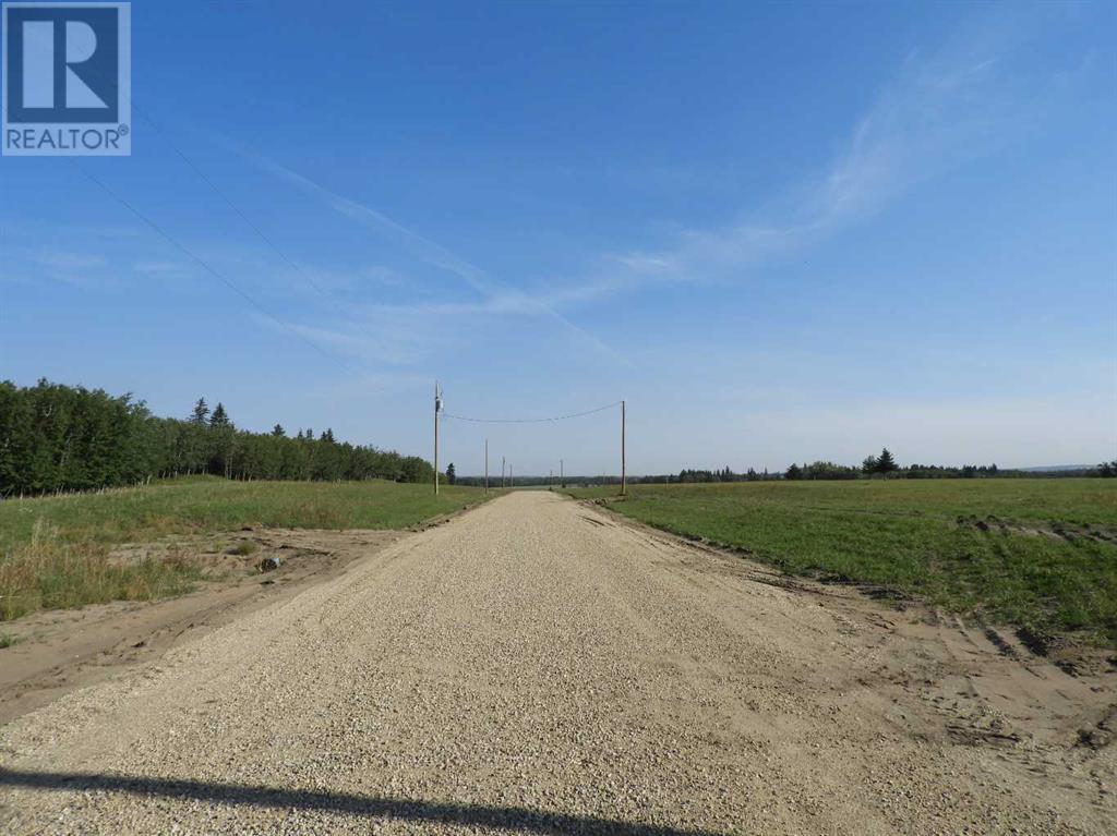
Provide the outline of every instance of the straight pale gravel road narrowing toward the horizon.
{"type": "Polygon", "coordinates": [[[0,832],[1111,833],[1113,693],[971,644],[516,492],[0,728],[0,832]]]}

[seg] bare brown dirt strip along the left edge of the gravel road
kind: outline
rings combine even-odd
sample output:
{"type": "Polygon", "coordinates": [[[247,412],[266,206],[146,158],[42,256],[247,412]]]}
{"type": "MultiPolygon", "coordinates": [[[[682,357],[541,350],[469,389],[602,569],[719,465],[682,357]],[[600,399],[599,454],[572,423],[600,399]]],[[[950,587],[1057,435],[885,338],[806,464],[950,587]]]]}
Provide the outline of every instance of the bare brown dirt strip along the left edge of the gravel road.
{"type": "Polygon", "coordinates": [[[189,638],[335,577],[354,559],[407,536],[247,527],[125,544],[113,550],[113,560],[191,560],[206,570],[207,580],[180,598],[38,612],[3,623],[11,645],[0,647],[0,723],[122,667],[156,660],[189,638]]]}

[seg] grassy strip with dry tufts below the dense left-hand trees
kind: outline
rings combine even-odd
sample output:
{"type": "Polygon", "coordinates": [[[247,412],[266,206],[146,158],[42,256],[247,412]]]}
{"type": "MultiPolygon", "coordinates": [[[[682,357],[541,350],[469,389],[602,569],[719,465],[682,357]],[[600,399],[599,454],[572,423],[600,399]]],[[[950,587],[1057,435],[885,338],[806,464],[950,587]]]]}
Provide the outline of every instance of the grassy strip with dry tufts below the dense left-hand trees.
{"type": "Polygon", "coordinates": [[[231,482],[199,477],[146,488],[0,502],[0,621],[37,609],[188,592],[183,557],[132,563],[113,546],[175,534],[267,526],[404,528],[484,500],[479,489],[393,482],[231,482]]]}

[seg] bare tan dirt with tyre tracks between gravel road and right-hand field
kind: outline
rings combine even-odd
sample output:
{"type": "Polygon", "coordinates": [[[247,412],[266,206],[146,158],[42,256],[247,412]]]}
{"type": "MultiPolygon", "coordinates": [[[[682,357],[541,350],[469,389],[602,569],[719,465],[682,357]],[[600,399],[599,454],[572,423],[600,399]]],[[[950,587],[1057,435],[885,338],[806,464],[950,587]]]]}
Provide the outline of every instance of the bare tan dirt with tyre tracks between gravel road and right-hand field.
{"type": "Polygon", "coordinates": [[[992,747],[1000,757],[1035,769],[1044,757],[1076,761],[1076,750],[1096,751],[1114,738],[1117,656],[1111,650],[1073,645],[1027,627],[970,624],[914,599],[882,602],[887,595],[863,585],[784,575],[742,550],[624,517],[609,502],[586,505],[666,552],[678,555],[678,547],[687,547],[688,571],[802,594],[804,605],[813,599],[832,614],[839,633],[849,625],[871,625],[880,632],[870,640],[880,664],[861,684],[897,704],[920,702],[937,714],[938,722],[920,732],[928,740],[992,747]]]}

